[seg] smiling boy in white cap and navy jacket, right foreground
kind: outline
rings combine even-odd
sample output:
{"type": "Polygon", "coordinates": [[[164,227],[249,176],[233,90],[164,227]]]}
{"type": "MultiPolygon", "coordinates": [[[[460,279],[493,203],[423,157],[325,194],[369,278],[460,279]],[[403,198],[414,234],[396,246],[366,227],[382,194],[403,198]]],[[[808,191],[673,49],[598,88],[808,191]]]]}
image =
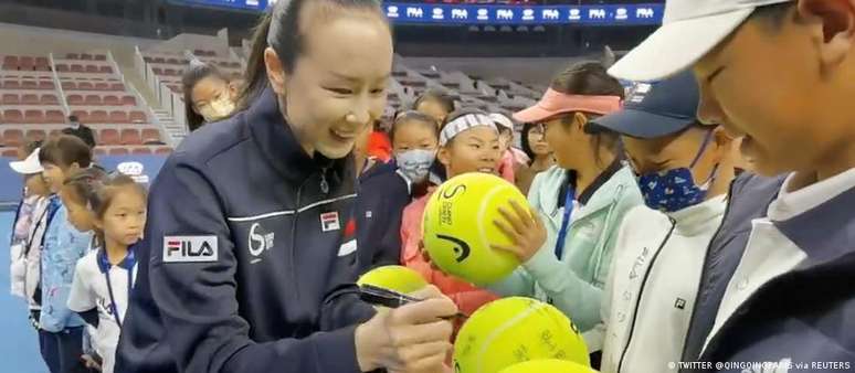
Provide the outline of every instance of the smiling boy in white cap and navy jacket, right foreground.
{"type": "Polygon", "coordinates": [[[665,14],[612,73],[651,81],[693,67],[698,117],[741,137],[758,173],[785,173],[733,182],[680,359],[705,364],[684,371],[852,371],[853,2],[668,0],[665,14]]]}

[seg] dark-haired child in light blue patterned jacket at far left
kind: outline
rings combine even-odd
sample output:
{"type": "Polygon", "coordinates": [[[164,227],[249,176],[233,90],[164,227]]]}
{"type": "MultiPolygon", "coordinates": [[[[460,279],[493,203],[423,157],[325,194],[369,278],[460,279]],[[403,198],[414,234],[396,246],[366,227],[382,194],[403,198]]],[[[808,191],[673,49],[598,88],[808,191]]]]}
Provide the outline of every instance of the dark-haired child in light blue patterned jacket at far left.
{"type": "MultiPolygon", "coordinates": [[[[66,177],[88,168],[92,152],[83,140],[68,135],[44,143],[39,152],[42,175],[52,193],[59,193],[66,177]]],[[[48,226],[42,263],[42,311],[39,326],[42,356],[52,373],[76,372],[81,363],[83,319],[67,307],[74,266],[92,242],[89,232],[80,232],[68,222],[68,210],[61,205],[48,226]]]]}

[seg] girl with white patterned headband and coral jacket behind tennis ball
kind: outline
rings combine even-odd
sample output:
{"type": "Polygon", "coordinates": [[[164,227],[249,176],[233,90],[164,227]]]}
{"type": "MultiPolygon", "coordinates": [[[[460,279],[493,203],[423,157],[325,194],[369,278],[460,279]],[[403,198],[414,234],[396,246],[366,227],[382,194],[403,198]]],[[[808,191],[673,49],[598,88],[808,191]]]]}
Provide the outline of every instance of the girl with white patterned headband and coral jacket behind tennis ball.
{"type": "MultiPolygon", "coordinates": [[[[460,110],[448,116],[440,132],[436,158],[448,178],[467,172],[498,173],[502,156],[498,130],[486,114],[460,110]]],[[[422,247],[422,217],[431,192],[413,201],[403,213],[401,263],[422,274],[431,284],[448,296],[462,312],[471,315],[482,305],[495,300],[493,294],[433,269],[422,247]]]]}

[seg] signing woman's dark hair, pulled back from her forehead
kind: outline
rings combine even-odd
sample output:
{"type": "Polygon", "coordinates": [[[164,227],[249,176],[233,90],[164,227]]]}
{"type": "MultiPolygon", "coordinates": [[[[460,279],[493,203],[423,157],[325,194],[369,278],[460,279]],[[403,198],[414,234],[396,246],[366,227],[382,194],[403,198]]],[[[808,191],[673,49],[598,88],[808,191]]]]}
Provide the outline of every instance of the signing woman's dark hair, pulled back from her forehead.
{"type": "MultiPolygon", "coordinates": [[[[252,36],[252,51],[246,63],[246,84],[238,99],[243,109],[267,87],[267,68],[264,51],[267,46],[276,51],[286,73],[294,71],[297,57],[305,52],[304,31],[300,26],[303,8],[309,0],[278,1],[258,21],[252,36]]],[[[374,13],[386,22],[386,14],[376,0],[314,0],[315,4],[328,9],[361,10],[374,13]]]]}

